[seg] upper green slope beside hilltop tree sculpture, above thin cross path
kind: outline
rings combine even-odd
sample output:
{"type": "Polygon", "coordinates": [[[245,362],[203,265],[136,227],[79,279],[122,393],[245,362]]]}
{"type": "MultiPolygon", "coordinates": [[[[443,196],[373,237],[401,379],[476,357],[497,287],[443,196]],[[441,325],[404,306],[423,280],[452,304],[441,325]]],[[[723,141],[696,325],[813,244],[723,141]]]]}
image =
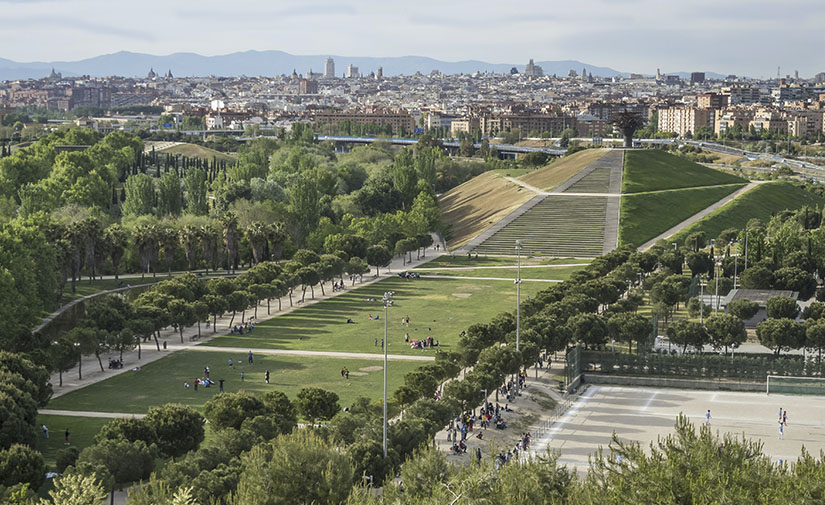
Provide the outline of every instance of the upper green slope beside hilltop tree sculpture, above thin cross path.
{"type": "Polygon", "coordinates": [[[744,183],[726,174],[657,149],[627,151],[622,193],[744,183]]]}

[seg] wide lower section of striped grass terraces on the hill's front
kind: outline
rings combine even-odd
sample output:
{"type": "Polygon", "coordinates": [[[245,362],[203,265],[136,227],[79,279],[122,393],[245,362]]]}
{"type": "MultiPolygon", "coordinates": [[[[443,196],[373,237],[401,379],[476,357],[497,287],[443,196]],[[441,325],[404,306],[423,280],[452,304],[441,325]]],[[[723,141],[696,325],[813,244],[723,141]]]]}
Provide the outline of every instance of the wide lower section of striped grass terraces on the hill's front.
{"type": "Polygon", "coordinates": [[[595,257],[604,249],[607,197],[548,196],[477,246],[479,254],[595,257]]]}

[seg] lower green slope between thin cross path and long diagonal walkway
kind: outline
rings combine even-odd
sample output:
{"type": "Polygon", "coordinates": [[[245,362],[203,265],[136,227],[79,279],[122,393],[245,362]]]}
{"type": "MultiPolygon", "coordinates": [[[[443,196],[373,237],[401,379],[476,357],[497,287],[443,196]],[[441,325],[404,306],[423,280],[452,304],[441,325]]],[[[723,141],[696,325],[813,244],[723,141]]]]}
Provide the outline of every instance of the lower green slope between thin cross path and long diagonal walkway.
{"type": "Polygon", "coordinates": [[[743,184],[622,196],[619,244],[638,247],[718,202],[743,184]]]}

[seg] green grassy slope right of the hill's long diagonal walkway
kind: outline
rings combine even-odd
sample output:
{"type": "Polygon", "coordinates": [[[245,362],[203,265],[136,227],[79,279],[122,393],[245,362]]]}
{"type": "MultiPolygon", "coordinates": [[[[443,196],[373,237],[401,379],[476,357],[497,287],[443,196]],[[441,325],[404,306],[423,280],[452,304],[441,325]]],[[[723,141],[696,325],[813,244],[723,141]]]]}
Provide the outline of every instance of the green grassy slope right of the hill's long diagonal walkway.
{"type": "Polygon", "coordinates": [[[762,184],[682,230],[672,240],[681,243],[689,234],[700,230],[707,233],[709,238],[716,237],[727,228],[744,228],[752,218],[760,219],[767,224],[776,212],[798,209],[804,205],[822,206],[825,205],[825,199],[790,182],[762,184]]]}

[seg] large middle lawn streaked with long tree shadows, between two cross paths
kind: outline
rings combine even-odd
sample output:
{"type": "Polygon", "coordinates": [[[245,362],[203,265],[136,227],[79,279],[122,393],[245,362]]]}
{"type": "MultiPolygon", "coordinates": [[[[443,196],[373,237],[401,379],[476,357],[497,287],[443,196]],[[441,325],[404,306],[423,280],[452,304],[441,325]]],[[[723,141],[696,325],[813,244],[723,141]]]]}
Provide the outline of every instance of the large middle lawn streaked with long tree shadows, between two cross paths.
{"type": "MultiPolygon", "coordinates": [[[[543,283],[524,284],[521,294],[526,297],[547,287],[543,283]]],[[[471,324],[489,321],[516,306],[512,281],[395,277],[272,318],[256,325],[252,334],[227,335],[201,345],[377,353],[380,348],[374,341],[384,335],[381,296],[385,291],[395,292],[395,303],[389,309],[389,350],[393,354],[422,352],[404,345],[405,332],[413,339],[432,336],[443,348],[451,349],[458,334],[471,324]],[[381,319],[370,320],[370,314],[380,314],[381,319]],[[405,316],[410,316],[409,328],[401,326],[405,316]],[[355,324],[347,324],[348,318],[355,324]]]]}

